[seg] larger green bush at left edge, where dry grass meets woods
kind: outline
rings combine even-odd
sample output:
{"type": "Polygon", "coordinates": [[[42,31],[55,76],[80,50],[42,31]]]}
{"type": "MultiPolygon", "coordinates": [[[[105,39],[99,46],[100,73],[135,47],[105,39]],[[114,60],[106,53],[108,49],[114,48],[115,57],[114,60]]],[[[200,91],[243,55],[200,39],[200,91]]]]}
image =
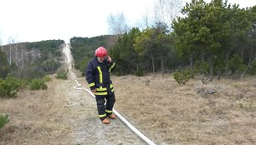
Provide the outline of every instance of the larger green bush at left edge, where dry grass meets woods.
{"type": "Polygon", "coordinates": [[[0,97],[16,97],[18,89],[26,85],[26,82],[16,77],[8,76],[0,79],[0,97]]]}

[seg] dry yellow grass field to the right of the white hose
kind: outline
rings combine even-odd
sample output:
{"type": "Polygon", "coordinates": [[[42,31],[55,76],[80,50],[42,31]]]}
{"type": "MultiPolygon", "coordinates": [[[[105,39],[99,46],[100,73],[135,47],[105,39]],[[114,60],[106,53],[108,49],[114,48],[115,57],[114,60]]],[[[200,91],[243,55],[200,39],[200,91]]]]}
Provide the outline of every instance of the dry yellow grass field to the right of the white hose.
{"type": "Polygon", "coordinates": [[[256,144],[256,77],[181,87],[159,74],[113,82],[115,109],[157,144],[256,144]]]}

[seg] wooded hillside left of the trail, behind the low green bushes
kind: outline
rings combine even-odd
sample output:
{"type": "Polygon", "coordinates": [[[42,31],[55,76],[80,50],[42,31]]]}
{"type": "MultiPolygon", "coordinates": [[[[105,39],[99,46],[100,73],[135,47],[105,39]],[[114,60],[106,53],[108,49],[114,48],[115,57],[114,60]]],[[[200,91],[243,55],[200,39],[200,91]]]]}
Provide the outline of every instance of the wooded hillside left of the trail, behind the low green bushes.
{"type": "Polygon", "coordinates": [[[0,49],[0,77],[42,78],[61,65],[63,40],[13,42],[0,49]]]}

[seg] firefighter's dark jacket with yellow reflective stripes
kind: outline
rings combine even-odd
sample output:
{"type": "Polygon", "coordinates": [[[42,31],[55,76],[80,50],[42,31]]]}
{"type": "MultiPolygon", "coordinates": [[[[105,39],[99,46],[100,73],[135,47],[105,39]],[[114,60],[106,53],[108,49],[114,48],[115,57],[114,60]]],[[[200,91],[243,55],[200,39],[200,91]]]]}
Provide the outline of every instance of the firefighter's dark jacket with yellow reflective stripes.
{"type": "Polygon", "coordinates": [[[90,90],[96,89],[95,95],[107,95],[108,91],[114,92],[110,80],[110,72],[113,69],[115,69],[115,62],[99,62],[97,57],[88,63],[85,78],[89,83],[90,90]]]}

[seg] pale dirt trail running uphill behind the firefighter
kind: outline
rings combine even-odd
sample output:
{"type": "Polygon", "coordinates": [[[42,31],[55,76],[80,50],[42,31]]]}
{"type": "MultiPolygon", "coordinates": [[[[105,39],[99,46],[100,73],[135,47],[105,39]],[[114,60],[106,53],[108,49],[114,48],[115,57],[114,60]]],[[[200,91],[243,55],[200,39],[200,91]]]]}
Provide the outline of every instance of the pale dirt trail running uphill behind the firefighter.
{"type": "MultiPolygon", "coordinates": [[[[72,61],[69,46],[64,48],[68,61],[72,61]]],[[[72,64],[72,62],[68,62],[72,64]]],[[[56,85],[56,91],[64,92],[66,107],[69,107],[70,113],[67,114],[67,122],[73,128],[74,144],[145,144],[141,138],[132,133],[120,119],[110,120],[109,125],[100,122],[98,118],[95,98],[88,92],[74,89],[77,86],[77,80],[82,87],[85,87],[85,79],[77,78],[79,74],[69,65],[69,80],[56,85]]]]}

